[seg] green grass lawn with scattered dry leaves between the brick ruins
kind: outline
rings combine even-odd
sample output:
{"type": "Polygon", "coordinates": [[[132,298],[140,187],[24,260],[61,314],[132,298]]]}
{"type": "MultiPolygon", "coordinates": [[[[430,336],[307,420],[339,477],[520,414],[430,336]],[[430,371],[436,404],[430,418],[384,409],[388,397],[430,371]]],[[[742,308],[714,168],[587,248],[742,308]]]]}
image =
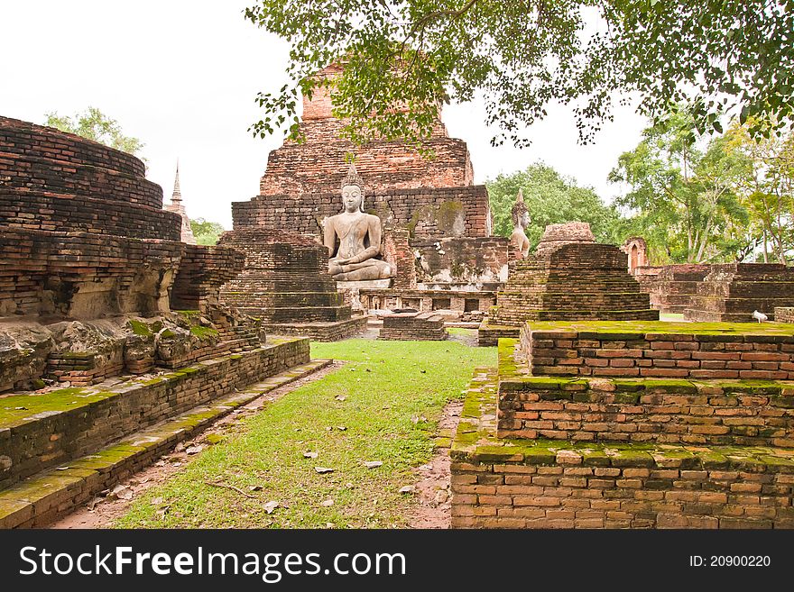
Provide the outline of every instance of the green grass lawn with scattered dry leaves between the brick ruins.
{"type": "Polygon", "coordinates": [[[348,361],[236,424],[226,440],[135,500],[115,526],[404,526],[412,497],[399,489],[429,460],[443,405],[462,396],[473,369],[496,364],[496,349],[348,340],[313,343],[311,353],[348,361]],[[306,451],[318,457],[304,458],[306,451]],[[372,460],[383,466],[365,468],[372,460]],[[255,498],[205,484],[218,479],[255,498]],[[323,505],[328,500],[333,505],[323,505]],[[279,507],[267,514],[270,501],[279,507]],[[158,512],[163,506],[165,514],[158,512]]]}

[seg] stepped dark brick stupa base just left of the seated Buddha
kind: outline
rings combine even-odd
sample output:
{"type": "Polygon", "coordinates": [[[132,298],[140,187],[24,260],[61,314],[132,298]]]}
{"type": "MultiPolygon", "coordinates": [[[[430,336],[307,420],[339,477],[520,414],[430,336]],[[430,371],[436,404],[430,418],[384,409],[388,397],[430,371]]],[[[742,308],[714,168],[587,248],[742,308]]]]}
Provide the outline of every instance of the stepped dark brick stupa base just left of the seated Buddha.
{"type": "Polygon", "coordinates": [[[245,270],[221,302],[259,317],[267,332],[330,342],[366,328],[328,275],[328,250],[310,236],[261,229],[226,232],[219,245],[245,253],[245,270]]]}

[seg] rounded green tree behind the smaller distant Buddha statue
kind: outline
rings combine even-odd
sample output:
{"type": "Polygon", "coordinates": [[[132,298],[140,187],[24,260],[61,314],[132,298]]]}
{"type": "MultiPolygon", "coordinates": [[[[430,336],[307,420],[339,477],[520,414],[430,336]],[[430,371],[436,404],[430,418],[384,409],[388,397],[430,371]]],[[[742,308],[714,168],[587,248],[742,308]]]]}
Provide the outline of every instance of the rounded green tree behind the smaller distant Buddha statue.
{"type": "Polygon", "coordinates": [[[510,236],[510,212],[521,188],[530,211],[526,234],[532,248],[537,246],[547,224],[573,221],[590,223],[596,240],[614,242],[616,210],[605,205],[592,188],[578,187],[574,179],[563,177],[542,162],[511,175],[500,175],[485,185],[494,213],[494,234],[510,236]]]}

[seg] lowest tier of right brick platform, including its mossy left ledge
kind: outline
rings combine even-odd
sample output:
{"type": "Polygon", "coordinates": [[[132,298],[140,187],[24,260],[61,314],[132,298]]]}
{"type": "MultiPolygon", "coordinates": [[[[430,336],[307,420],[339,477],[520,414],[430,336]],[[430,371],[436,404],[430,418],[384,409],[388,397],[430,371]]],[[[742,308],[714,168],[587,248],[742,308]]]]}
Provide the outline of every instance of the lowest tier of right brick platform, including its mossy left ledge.
{"type": "Polygon", "coordinates": [[[788,451],[498,438],[497,390],[482,369],[466,396],[453,528],[794,528],[788,451]]]}

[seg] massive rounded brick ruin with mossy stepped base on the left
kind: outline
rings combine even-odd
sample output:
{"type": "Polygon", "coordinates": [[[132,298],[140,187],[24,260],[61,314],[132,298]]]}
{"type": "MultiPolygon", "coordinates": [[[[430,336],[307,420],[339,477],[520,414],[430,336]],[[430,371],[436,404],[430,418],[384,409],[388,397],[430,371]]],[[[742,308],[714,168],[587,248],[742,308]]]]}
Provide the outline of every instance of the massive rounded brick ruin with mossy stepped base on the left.
{"type": "Polygon", "coordinates": [[[271,386],[246,387],[315,367],[308,340],[265,343],[218,305],[244,254],[180,242],[143,174],[0,117],[0,527],[47,524],[271,386]]]}

